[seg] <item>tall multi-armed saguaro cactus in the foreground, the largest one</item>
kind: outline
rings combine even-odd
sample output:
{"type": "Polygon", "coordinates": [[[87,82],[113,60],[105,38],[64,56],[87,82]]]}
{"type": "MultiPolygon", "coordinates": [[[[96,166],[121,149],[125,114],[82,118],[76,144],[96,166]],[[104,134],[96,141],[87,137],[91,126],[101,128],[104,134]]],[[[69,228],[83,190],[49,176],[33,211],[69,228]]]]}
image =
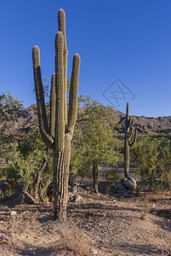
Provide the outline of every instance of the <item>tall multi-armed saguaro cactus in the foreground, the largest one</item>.
{"type": "Polygon", "coordinates": [[[51,79],[49,124],[43,96],[40,50],[32,49],[34,83],[37,96],[39,129],[44,143],[53,148],[54,219],[66,218],[68,178],[71,155],[71,138],[77,119],[77,93],[80,56],[74,55],[72,62],[69,108],[66,102],[67,48],[66,14],[58,13],[59,32],[55,37],[55,73],[51,79]]]}

